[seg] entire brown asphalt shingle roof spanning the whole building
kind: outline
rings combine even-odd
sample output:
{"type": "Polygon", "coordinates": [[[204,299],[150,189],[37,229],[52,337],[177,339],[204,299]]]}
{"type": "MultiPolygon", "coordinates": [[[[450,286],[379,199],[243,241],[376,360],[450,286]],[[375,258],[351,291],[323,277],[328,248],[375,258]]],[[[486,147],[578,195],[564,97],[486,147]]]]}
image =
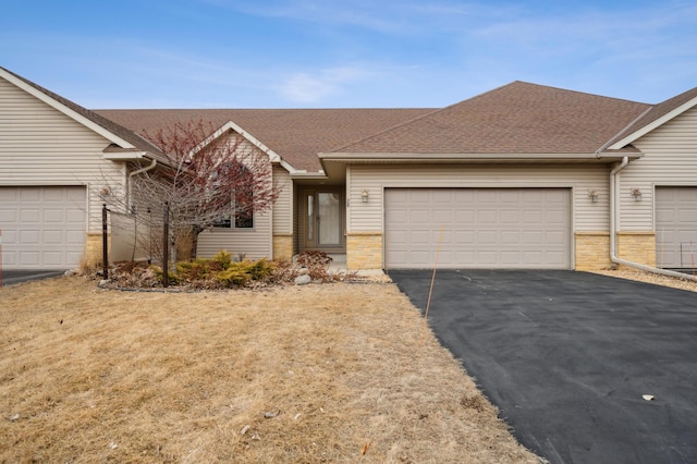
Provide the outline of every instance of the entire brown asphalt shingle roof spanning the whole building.
{"type": "Polygon", "coordinates": [[[594,154],[697,98],[696,87],[652,106],[516,81],[443,109],[88,110],[3,71],[158,158],[148,135],[232,121],[308,172],[321,169],[320,152],[594,154]]]}

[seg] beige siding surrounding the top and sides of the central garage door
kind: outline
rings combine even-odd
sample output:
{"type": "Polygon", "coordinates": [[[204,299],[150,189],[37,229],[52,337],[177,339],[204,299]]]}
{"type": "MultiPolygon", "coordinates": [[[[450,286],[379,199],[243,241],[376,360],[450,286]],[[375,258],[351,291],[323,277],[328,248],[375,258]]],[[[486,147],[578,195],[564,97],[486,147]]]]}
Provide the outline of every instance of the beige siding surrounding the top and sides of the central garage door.
{"type": "Polygon", "coordinates": [[[387,187],[565,187],[572,188],[572,228],[609,229],[608,164],[412,164],[350,166],[348,232],[381,232],[387,187]],[[367,203],[360,199],[366,190],[367,203]],[[597,203],[588,191],[598,192],[597,203]]]}

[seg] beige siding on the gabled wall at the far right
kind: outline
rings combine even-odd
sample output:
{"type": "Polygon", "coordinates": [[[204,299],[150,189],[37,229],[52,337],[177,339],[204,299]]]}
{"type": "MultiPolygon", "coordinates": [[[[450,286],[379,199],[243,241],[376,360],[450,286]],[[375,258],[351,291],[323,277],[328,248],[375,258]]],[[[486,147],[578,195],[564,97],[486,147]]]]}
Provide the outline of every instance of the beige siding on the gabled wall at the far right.
{"type": "Polygon", "coordinates": [[[697,109],[656,129],[634,145],[644,157],[620,172],[620,231],[652,231],[656,186],[697,186],[697,109]],[[640,188],[641,202],[632,196],[640,188]]]}

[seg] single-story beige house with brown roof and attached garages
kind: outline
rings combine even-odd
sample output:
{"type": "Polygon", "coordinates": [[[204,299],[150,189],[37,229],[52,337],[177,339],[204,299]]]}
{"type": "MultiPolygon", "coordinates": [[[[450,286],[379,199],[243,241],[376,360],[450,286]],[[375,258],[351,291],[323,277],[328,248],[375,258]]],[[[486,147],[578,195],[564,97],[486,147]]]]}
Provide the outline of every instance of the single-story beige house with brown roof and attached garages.
{"type": "Polygon", "coordinates": [[[105,176],[163,162],[143,136],[203,120],[268,157],[280,198],[225,248],[348,269],[695,266],[697,88],[658,105],[514,82],[442,109],[87,110],[0,69],[10,269],[101,254],[105,176]]]}

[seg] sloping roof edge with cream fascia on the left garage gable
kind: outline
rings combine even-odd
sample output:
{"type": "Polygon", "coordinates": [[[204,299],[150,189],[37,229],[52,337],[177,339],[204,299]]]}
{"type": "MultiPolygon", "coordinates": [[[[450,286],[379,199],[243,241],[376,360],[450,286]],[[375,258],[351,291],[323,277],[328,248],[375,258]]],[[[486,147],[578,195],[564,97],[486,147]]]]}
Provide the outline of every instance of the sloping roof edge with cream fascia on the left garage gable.
{"type": "Polygon", "coordinates": [[[114,154],[115,157],[118,157],[117,154],[126,152],[134,154],[135,156],[147,154],[160,161],[167,160],[160,149],[150,142],[144,139],[126,127],[95,113],[94,111],[81,107],[80,105],[1,66],[0,77],[16,85],[45,103],[56,108],[69,118],[72,118],[110,141],[112,145],[105,148],[106,154],[114,154]]]}

